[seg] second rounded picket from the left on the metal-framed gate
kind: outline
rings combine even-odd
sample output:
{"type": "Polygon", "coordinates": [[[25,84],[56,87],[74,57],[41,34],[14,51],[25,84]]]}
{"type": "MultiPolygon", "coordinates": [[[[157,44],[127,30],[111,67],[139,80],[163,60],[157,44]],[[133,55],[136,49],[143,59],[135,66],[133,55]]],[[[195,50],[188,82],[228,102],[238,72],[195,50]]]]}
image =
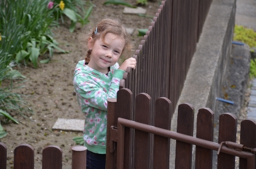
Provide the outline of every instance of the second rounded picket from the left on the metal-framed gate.
{"type": "MultiPolygon", "coordinates": [[[[151,124],[151,97],[147,93],[140,93],[135,100],[134,121],[151,124]]],[[[134,132],[134,168],[150,168],[151,138],[149,133],[134,132]]]]}

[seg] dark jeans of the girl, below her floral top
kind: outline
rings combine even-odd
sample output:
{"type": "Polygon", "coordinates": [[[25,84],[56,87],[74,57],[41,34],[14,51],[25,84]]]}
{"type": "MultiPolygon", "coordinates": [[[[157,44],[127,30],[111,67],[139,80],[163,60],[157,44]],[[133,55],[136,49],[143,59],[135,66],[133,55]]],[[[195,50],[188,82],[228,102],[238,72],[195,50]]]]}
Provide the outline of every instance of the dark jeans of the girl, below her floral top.
{"type": "Polygon", "coordinates": [[[86,169],[105,169],[106,154],[97,154],[88,151],[86,153],[86,169]]]}

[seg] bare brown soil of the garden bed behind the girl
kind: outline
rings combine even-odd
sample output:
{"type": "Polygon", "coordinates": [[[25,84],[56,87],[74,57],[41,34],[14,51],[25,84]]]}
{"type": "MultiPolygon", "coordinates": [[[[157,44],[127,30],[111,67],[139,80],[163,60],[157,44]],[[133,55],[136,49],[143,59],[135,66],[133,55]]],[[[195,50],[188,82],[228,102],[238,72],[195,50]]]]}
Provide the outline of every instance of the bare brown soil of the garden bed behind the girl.
{"type": "MultiPolygon", "coordinates": [[[[104,16],[112,16],[123,20],[127,28],[135,28],[131,40],[138,48],[143,37],[138,36],[138,29],[147,29],[152,18],[144,18],[133,14],[123,14],[124,6],[103,5],[105,0],[92,1],[95,4],[89,24],[83,28],[77,28],[74,33],[69,32],[68,25],[61,25],[53,30],[59,47],[69,51],[67,54],[54,53],[53,59],[48,64],[40,64],[35,69],[32,66],[19,68],[26,76],[25,88],[19,89],[19,93],[29,97],[25,98],[34,112],[28,119],[16,115],[19,124],[2,124],[8,132],[5,138],[0,139],[7,146],[7,168],[13,168],[13,152],[20,144],[32,145],[35,149],[35,168],[41,168],[42,150],[48,145],[56,145],[63,151],[63,167],[71,168],[71,146],[75,145],[73,137],[82,136],[82,132],[52,131],[57,118],[84,119],[79,110],[72,77],[76,63],[83,60],[85,53],[76,37],[81,37],[81,32],[86,28],[93,27],[104,16]]],[[[126,0],[136,5],[135,0],[126,0]]],[[[143,6],[147,15],[155,16],[159,2],[148,2],[143,6]]],[[[18,68],[17,68],[18,69],[18,68]]]]}

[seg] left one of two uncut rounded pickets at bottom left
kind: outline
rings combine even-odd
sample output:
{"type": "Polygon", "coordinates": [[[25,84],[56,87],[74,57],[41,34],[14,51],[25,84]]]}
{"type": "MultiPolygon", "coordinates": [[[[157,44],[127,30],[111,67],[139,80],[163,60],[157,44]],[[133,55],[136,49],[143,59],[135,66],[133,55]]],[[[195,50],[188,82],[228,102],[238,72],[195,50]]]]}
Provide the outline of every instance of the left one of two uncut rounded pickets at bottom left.
{"type": "Polygon", "coordinates": [[[20,144],[14,149],[14,169],[34,169],[34,148],[20,144]]]}

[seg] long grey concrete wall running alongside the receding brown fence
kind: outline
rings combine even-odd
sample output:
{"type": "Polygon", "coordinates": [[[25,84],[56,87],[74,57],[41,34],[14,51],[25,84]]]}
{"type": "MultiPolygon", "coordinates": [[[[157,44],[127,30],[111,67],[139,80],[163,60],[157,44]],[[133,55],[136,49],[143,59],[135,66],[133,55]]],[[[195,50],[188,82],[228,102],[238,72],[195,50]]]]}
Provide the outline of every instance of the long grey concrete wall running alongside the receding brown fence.
{"type": "MultiPolygon", "coordinates": [[[[231,57],[235,13],[236,0],[212,2],[172,118],[171,131],[176,131],[177,108],[181,103],[190,103],[194,106],[194,128],[196,128],[199,109],[208,107],[215,111],[216,97],[221,93],[221,84],[226,78],[231,57]]],[[[194,136],[195,134],[194,129],[194,136]]],[[[175,145],[176,141],[171,139],[170,168],[175,168],[175,145]]],[[[194,148],[193,153],[195,153],[194,148]]]]}

